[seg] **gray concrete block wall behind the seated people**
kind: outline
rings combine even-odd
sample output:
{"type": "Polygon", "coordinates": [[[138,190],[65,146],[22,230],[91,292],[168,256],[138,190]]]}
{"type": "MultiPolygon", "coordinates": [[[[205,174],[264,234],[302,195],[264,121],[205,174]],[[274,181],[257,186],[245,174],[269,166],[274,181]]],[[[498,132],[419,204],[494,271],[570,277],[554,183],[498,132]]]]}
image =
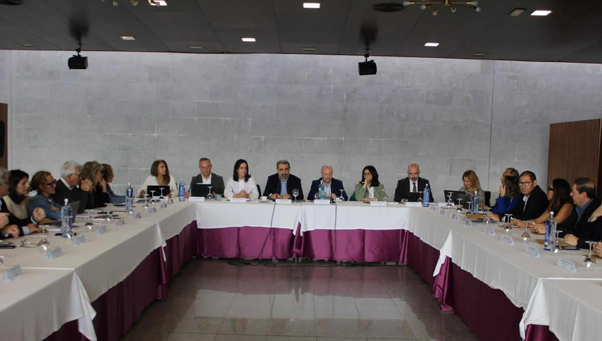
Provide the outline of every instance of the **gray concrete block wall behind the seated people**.
{"type": "Polygon", "coordinates": [[[114,187],[140,185],[152,161],[178,179],[208,156],[226,179],[245,158],[261,188],[287,158],[304,191],[320,166],[351,192],[374,165],[393,197],[419,162],[435,198],[476,170],[497,191],[505,167],[546,181],[549,124],[600,117],[602,66],[377,57],[0,51],[0,101],[10,104],[10,166],[58,176],[62,162],[112,164],[114,187]]]}

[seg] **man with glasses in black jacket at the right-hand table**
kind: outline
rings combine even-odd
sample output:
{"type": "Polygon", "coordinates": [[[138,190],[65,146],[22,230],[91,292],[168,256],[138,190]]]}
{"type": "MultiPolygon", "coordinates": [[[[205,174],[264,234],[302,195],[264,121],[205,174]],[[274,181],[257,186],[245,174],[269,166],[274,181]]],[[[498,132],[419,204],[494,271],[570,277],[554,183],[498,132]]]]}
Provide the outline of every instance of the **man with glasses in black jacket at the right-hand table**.
{"type": "Polygon", "coordinates": [[[524,171],[518,178],[521,189],[518,204],[512,210],[512,217],[519,220],[532,220],[539,218],[548,208],[548,196],[539,188],[537,178],[532,171],[524,171]]]}

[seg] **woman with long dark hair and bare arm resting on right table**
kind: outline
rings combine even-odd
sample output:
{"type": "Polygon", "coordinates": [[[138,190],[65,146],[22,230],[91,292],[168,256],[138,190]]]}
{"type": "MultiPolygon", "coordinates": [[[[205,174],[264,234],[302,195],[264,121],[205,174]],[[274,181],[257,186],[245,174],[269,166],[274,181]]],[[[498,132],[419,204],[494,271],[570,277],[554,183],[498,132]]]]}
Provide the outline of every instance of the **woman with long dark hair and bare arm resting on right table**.
{"type": "MultiPolygon", "coordinates": [[[[571,198],[571,184],[565,179],[556,178],[548,187],[548,208],[537,219],[529,222],[534,233],[545,234],[545,221],[550,218],[550,212],[554,212],[556,229],[563,231],[559,234],[562,238],[569,230],[577,224],[577,212],[574,210],[573,198],[571,198]]],[[[513,219],[519,227],[525,227],[526,223],[520,219],[513,219]]]]}

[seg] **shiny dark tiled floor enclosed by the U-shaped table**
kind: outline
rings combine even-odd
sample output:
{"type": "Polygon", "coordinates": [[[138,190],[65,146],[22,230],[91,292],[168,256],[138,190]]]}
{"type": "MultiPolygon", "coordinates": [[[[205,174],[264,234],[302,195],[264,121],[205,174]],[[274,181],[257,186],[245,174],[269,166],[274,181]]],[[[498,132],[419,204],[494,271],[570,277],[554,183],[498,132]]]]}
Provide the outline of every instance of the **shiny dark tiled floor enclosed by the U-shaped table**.
{"type": "Polygon", "coordinates": [[[125,340],[477,340],[408,266],[303,264],[193,259],[125,340]]]}

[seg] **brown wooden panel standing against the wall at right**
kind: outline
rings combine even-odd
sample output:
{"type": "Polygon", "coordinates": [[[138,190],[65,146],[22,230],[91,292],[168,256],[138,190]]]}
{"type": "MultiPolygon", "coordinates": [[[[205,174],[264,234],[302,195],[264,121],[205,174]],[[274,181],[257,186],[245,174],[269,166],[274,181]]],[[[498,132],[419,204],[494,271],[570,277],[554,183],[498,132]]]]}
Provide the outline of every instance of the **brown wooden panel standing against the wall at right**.
{"type": "MultiPolygon", "coordinates": [[[[600,119],[550,124],[548,184],[556,177],[569,183],[586,176],[598,183],[600,119]]],[[[541,188],[548,184],[540,183],[541,188]]],[[[597,190],[600,191],[600,186],[597,190]]]]}

